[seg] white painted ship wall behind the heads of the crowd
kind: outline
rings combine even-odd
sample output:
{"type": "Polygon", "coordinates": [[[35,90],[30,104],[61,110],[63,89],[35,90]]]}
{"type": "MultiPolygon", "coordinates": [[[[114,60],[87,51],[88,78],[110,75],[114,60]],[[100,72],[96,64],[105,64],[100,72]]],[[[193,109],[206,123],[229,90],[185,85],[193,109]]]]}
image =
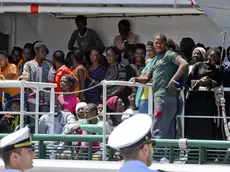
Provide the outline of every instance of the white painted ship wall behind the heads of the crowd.
{"type": "MultiPolygon", "coordinates": [[[[61,20],[50,17],[47,14],[26,15],[15,14],[16,38],[15,44],[23,46],[27,42],[35,40],[44,41],[51,54],[56,49],[68,51],[68,40],[76,29],[73,20],[61,20]]],[[[220,46],[222,44],[222,32],[206,16],[162,16],[162,17],[135,17],[128,18],[132,24],[132,31],[137,34],[138,42],[146,43],[154,34],[165,33],[177,43],[183,37],[192,37],[196,43],[201,42],[207,46],[220,46]]],[[[0,30],[3,33],[12,32],[12,22],[6,14],[0,14],[0,30]]],[[[95,29],[106,46],[112,44],[118,34],[117,23],[121,18],[89,19],[88,26],[95,29]]],[[[226,46],[230,45],[230,36],[227,36],[226,46]]]]}

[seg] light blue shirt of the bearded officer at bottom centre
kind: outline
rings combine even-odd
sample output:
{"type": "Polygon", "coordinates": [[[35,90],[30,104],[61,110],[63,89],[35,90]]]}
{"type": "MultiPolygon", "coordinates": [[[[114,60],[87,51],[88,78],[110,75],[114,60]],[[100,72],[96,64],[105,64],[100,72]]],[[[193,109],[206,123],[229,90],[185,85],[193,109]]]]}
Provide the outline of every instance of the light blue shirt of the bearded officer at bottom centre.
{"type": "Polygon", "coordinates": [[[151,170],[141,161],[127,161],[125,162],[118,172],[158,172],[157,170],[151,170]]]}

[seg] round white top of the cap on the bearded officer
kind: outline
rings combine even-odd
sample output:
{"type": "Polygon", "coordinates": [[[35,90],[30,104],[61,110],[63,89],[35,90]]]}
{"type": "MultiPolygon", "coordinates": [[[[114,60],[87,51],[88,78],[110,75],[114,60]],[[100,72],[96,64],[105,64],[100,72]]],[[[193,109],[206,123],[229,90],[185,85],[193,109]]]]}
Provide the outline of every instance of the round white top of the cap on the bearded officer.
{"type": "MultiPolygon", "coordinates": [[[[108,144],[113,149],[132,146],[145,138],[151,130],[152,119],[148,115],[138,114],[118,125],[109,136],[108,144]]],[[[146,140],[151,138],[147,137],[146,140]]]]}

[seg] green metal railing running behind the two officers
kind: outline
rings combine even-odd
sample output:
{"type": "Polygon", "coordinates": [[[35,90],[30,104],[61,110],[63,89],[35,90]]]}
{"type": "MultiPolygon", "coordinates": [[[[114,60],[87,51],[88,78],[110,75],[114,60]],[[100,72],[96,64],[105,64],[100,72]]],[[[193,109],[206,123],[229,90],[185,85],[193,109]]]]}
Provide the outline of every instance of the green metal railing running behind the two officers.
{"type": "MultiPolygon", "coordinates": [[[[0,139],[4,137],[5,134],[0,134],[0,139]]],[[[107,137],[106,137],[107,138],[107,137]]],[[[92,143],[102,142],[102,135],[62,135],[62,134],[34,134],[32,135],[32,140],[38,142],[36,147],[37,158],[47,159],[50,154],[50,150],[47,148],[46,141],[51,142],[89,142],[87,159],[92,160],[94,152],[92,143]]],[[[153,159],[157,157],[167,157],[169,163],[174,163],[178,157],[181,156],[181,149],[179,140],[167,140],[167,139],[157,139],[156,140],[156,151],[161,150],[164,154],[154,151],[153,159]]],[[[186,141],[188,159],[185,163],[189,164],[216,164],[229,163],[230,142],[228,141],[213,141],[213,140],[187,140],[186,141]],[[226,159],[227,156],[227,159],[226,159]],[[225,158],[225,161],[224,161],[225,158]],[[217,161],[218,159],[218,161],[217,161]]],[[[68,148],[68,147],[65,147],[68,148]]],[[[63,149],[65,149],[63,148],[63,149]]],[[[75,149],[76,147],[72,147],[75,149]]],[[[54,150],[55,148],[52,148],[54,150]]],[[[62,149],[62,150],[63,150],[62,149]]],[[[106,149],[107,160],[114,160],[114,152],[110,148],[106,149]]],[[[184,153],[182,153],[184,154],[184,153]]]]}

